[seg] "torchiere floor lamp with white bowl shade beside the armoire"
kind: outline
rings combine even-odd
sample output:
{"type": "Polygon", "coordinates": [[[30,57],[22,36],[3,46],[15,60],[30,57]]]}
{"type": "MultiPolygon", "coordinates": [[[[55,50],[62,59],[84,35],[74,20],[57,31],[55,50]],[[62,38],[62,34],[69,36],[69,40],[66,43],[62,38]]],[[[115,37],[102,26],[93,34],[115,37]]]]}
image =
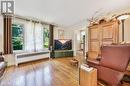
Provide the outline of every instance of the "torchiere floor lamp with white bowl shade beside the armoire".
{"type": "Polygon", "coordinates": [[[130,16],[130,13],[125,13],[117,16],[117,19],[122,23],[122,42],[124,41],[124,28],[125,28],[125,20],[130,16]]]}

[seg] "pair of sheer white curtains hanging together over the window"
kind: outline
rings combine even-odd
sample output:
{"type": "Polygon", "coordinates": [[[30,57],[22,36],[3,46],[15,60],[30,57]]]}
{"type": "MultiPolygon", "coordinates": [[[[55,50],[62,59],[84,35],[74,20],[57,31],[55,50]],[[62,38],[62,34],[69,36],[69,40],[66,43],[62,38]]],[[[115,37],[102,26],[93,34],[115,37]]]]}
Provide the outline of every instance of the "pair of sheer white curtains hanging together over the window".
{"type": "Polygon", "coordinates": [[[44,29],[48,25],[24,22],[24,49],[25,52],[35,52],[44,50],[44,29]]]}

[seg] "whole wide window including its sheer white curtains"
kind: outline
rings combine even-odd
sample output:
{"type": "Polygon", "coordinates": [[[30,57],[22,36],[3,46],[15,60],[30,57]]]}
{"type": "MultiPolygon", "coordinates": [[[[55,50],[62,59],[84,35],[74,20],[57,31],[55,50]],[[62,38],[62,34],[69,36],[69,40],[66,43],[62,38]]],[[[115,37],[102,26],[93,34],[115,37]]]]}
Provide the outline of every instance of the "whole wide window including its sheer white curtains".
{"type": "Polygon", "coordinates": [[[49,25],[14,19],[12,45],[16,52],[35,52],[49,48],[49,25]]]}

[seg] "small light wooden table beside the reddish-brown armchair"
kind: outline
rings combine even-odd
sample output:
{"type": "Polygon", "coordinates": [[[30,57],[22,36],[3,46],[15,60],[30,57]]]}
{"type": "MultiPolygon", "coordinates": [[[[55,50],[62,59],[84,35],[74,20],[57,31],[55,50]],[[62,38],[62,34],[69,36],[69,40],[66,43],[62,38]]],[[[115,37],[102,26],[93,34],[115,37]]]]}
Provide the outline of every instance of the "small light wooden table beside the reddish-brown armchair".
{"type": "Polygon", "coordinates": [[[79,84],[80,86],[97,86],[97,69],[91,71],[79,69],[79,84]]]}

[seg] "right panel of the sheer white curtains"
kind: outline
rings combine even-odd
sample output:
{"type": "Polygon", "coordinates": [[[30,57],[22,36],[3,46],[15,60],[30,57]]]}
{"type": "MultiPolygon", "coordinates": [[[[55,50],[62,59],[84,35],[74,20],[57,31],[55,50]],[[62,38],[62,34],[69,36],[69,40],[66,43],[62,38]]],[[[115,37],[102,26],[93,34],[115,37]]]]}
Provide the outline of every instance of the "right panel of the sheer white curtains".
{"type": "Polygon", "coordinates": [[[35,49],[36,51],[43,50],[43,26],[40,23],[35,23],[35,49]]]}

